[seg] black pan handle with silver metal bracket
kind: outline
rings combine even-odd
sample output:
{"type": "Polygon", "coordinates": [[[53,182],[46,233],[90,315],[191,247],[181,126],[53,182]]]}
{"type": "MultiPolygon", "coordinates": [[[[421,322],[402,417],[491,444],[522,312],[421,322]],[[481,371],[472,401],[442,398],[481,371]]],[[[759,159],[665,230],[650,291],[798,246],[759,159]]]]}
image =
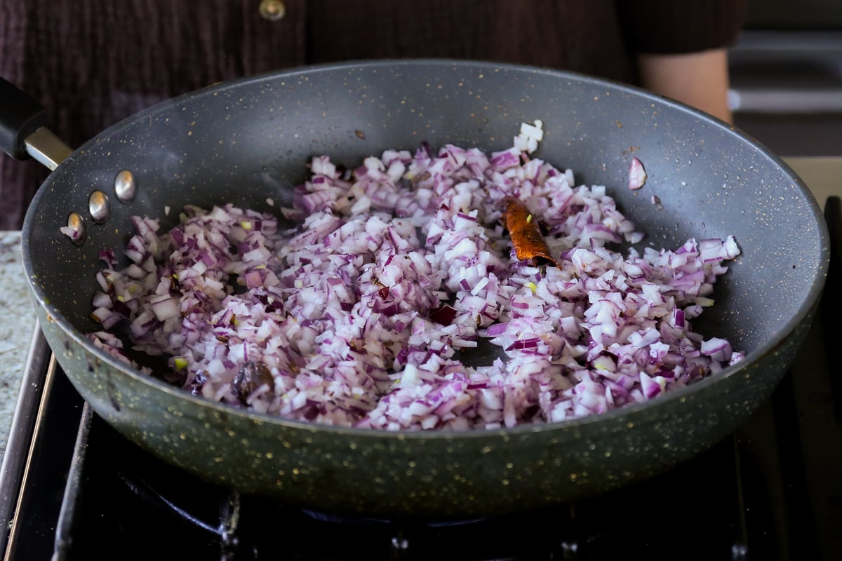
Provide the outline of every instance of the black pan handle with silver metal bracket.
{"type": "Polygon", "coordinates": [[[33,156],[56,169],[72,149],[47,128],[49,120],[40,103],[0,77],[0,149],[16,160],[33,156]]]}

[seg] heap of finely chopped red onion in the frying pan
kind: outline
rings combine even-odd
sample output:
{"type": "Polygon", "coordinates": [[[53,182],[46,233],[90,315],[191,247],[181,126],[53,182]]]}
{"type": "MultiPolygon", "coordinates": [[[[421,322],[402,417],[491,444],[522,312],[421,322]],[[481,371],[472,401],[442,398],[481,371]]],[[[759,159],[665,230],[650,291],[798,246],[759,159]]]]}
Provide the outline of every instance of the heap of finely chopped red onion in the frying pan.
{"type": "MultiPolygon", "coordinates": [[[[280,209],[300,220],[291,230],[230,204],[188,206],[168,232],[134,217],[131,264],[101,256],[92,316],[103,331],[90,338],[129,363],[107,332],[125,322],[127,345],[169,357],[165,378],[208,400],[385,430],[564,421],[741,360],[691,328],[739,254],[733,237],[611,250],[642,232],[605,187],[529,156],[541,129],[525,124],[490,156],[422,143],[355,168],[314,157],[280,209]],[[559,267],[514,257],[499,224],[508,196],[546,226],[559,267]],[[480,338],[498,357],[467,366],[480,338]]],[[[645,180],[634,158],[629,187],[645,180]]]]}

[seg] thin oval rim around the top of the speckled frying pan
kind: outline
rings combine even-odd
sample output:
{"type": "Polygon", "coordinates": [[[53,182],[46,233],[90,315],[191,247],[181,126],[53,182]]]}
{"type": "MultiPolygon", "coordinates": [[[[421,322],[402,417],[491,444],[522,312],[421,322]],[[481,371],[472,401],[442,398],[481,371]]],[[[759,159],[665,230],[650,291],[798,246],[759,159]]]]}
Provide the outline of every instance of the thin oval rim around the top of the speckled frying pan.
{"type": "Polygon", "coordinates": [[[40,312],[45,313],[50,318],[51,322],[58,325],[61,328],[61,331],[63,331],[65,335],[69,336],[75,344],[82,347],[85,350],[85,352],[92,352],[102,362],[108,363],[110,367],[116,368],[120,372],[127,374],[133,381],[145,384],[154,391],[163,391],[164,393],[169,394],[170,397],[176,400],[186,400],[192,402],[194,405],[199,405],[200,407],[203,407],[207,410],[218,411],[221,413],[225,413],[226,415],[240,416],[247,419],[248,421],[253,422],[254,424],[282,426],[287,429],[296,431],[327,431],[338,435],[353,436],[360,439],[370,440],[452,440],[454,438],[463,439],[466,437],[510,438],[538,431],[584,431],[589,426],[610,425],[613,423],[625,424],[626,422],[635,421],[638,418],[645,419],[648,416],[658,416],[658,410],[663,409],[662,407],[660,407],[660,405],[668,404],[675,400],[687,400],[689,397],[692,398],[693,396],[695,396],[695,394],[701,394],[705,389],[709,388],[711,385],[717,384],[717,382],[720,382],[726,378],[731,378],[733,376],[739,375],[740,373],[743,373],[744,370],[750,368],[754,364],[756,359],[766,355],[767,353],[772,352],[776,347],[781,347],[781,345],[785,343],[786,338],[791,336],[793,331],[796,330],[797,326],[801,325],[802,321],[806,320],[807,317],[809,317],[813,313],[813,310],[818,304],[818,300],[820,299],[821,294],[823,292],[824,281],[827,277],[829,267],[829,233],[827,230],[827,225],[823,219],[823,213],[819,208],[818,202],[815,200],[812,193],[807,188],[806,184],[802,181],[801,177],[798,177],[797,173],[794,172],[791,169],[791,167],[789,167],[786,164],[786,162],[781,159],[780,156],[775,155],[758,140],[755,140],[751,136],[744,133],[742,130],[738,130],[738,128],[733,126],[732,124],[727,124],[712,115],[705,114],[695,108],[691,108],[685,103],[680,103],[670,98],[664,98],[662,96],[659,96],[658,94],[649,92],[641,87],[632,86],[622,82],[612,81],[610,79],[593,77],[576,71],[557,70],[552,68],[544,68],[540,66],[528,66],[514,63],[499,63],[493,61],[470,61],[452,58],[380,59],[373,61],[344,61],[337,63],[321,63],[299,66],[296,68],[285,69],[281,71],[264,72],[252,77],[242,77],[231,81],[217,82],[207,87],[197,89],[193,92],[184,93],[177,97],[164,100],[160,103],[156,103],[151,107],[143,109],[136,114],[132,114],[131,116],[120,120],[120,122],[99,132],[99,134],[94,135],[90,140],[85,142],[83,146],[80,146],[76,151],[73,151],[72,154],[68,156],[67,160],[62,162],[61,165],[58,168],[56,168],[56,171],[52,172],[50,176],[47,177],[45,182],[40,186],[38,192],[35,193],[35,197],[32,199],[26,217],[24,218],[23,234],[24,235],[22,236],[21,251],[23,252],[24,256],[24,272],[29,283],[30,294],[32,294],[35,298],[36,305],[40,308],[40,312]],[[519,425],[514,427],[500,427],[487,430],[472,429],[462,431],[387,431],[381,429],[366,429],[349,426],[332,426],[312,423],[308,421],[296,421],[276,415],[256,413],[254,411],[247,410],[242,407],[237,407],[236,405],[227,405],[216,401],[206,400],[204,398],[200,398],[198,396],[189,394],[189,392],[185,391],[184,389],[167,384],[163,380],[152,378],[133,368],[126,368],[125,364],[120,363],[120,361],[117,360],[115,357],[110,356],[107,352],[104,352],[99,348],[93,347],[93,345],[89,343],[87,338],[83,336],[83,333],[77,331],[77,329],[70,324],[69,320],[67,320],[65,315],[61,314],[61,311],[58,310],[55,305],[48,303],[44,290],[40,288],[39,284],[37,283],[37,278],[33,276],[33,265],[29,259],[32,248],[30,245],[30,236],[28,236],[27,233],[32,230],[32,226],[34,223],[33,215],[35,214],[35,210],[38,208],[40,201],[43,198],[45,198],[45,195],[49,191],[49,186],[51,185],[51,183],[56,180],[56,177],[61,176],[61,172],[64,168],[71,166],[73,162],[79,160],[80,158],[83,158],[85,151],[88,150],[88,147],[94,146],[98,142],[98,140],[109,135],[114,135],[115,130],[120,130],[128,124],[136,122],[138,119],[148,119],[152,115],[163,113],[167,111],[168,108],[179,106],[180,104],[183,104],[190,99],[200,96],[217,95],[220,93],[224,93],[228,90],[233,90],[237,87],[241,87],[243,84],[246,83],[253,84],[259,82],[270,82],[277,80],[280,77],[294,79],[306,77],[307,75],[315,72],[321,73],[324,71],[344,71],[362,73],[366,71],[394,71],[396,68],[411,69],[419,66],[435,66],[443,71],[447,69],[452,69],[459,71],[510,71],[516,73],[529,73],[534,75],[545,75],[554,78],[561,78],[565,80],[571,80],[574,82],[590,84],[600,87],[609,87],[612,90],[616,90],[622,93],[628,93],[637,98],[646,98],[652,101],[653,103],[657,103],[663,108],[669,108],[668,110],[680,111],[687,114],[691,114],[696,119],[706,121],[710,124],[715,125],[717,128],[728,130],[730,134],[736,135],[739,140],[743,141],[743,143],[752,146],[754,150],[757,151],[759,156],[765,157],[775,167],[779,167],[783,172],[785,172],[786,176],[788,176],[791,179],[792,183],[796,186],[796,188],[801,192],[802,196],[804,196],[804,198],[806,199],[807,204],[809,205],[810,214],[812,214],[813,218],[818,224],[818,228],[820,230],[820,239],[818,241],[818,263],[811,262],[811,265],[818,265],[818,267],[816,268],[816,273],[813,277],[813,282],[811,283],[811,286],[808,290],[807,299],[802,301],[801,304],[799,304],[797,314],[793,315],[789,320],[787,320],[786,324],[781,328],[781,330],[775,333],[775,336],[770,337],[770,339],[765,341],[762,345],[747,353],[743,361],[741,361],[740,363],[733,364],[727,368],[724,368],[721,372],[712,374],[684,388],[674,389],[667,394],[659,395],[653,400],[648,400],[632,405],[626,405],[619,409],[606,411],[605,413],[587,415],[584,417],[578,417],[566,421],[557,421],[552,423],[542,423],[535,425],[519,425]]]}

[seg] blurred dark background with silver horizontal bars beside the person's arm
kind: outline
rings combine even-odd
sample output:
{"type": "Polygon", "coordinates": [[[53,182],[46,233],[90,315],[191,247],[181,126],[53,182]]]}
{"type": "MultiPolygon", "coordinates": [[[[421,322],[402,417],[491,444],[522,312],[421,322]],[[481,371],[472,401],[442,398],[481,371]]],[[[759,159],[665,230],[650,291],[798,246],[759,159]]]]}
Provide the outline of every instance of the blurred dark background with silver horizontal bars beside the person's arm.
{"type": "Polygon", "coordinates": [[[781,156],[842,156],[842,0],[752,0],[729,61],[738,128],[781,156]]]}

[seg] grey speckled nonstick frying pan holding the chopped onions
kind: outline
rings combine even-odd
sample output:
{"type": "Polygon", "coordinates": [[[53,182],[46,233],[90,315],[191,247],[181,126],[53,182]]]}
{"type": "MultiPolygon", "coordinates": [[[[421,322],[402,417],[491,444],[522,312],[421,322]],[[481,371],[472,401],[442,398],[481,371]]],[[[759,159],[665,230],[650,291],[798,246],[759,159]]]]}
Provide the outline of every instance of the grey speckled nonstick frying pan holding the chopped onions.
{"type": "MultiPolygon", "coordinates": [[[[29,130],[6,133],[7,140],[49,161],[50,148],[22,140],[40,121],[14,115],[29,130]]],[[[38,130],[30,140],[49,136],[38,130]]],[[[58,165],[29,207],[23,240],[40,326],[58,362],[93,410],[131,441],[200,478],[290,505],[442,518],[603,494],[726,437],[786,373],[829,256],[826,226],[807,188],[741,131],[619,83],[448,60],[307,66],[144,110],[58,165]],[[503,150],[521,122],[535,119],[546,130],[536,156],[573,169],[577,183],[608,186],[647,232],[639,246],[736,237],[742,255],[717,284],[717,305],[694,326],[727,336],[746,352],[742,362],[646,404],[574,421],[386,432],[210,403],[126,368],[84,336],[97,328],[89,313],[99,251],[125,243],[132,214],[160,218],[166,229],[178,212],[165,214],[165,206],[232,202],[270,210],[266,198],[279,196],[284,181],[300,183],[310,156],[354,165],[386,148],[414,151],[422,141],[503,150]],[[626,187],[632,156],[648,176],[637,191],[626,187]],[[134,183],[125,182],[124,170],[134,183]],[[125,197],[126,186],[136,188],[134,198],[125,197]],[[79,245],[60,232],[71,213],[86,230],[79,245]]]]}

